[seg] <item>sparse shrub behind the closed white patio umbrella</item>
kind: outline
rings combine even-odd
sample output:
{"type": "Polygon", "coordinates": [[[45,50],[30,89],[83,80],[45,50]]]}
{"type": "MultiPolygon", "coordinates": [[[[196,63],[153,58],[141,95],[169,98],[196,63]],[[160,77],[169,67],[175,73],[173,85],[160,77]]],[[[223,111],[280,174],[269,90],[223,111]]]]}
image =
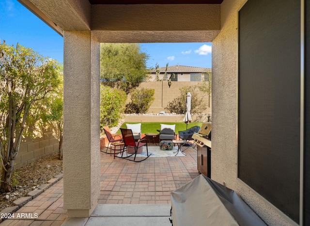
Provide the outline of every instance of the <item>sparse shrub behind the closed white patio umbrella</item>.
{"type": "Polygon", "coordinates": [[[186,112],[186,93],[190,92],[191,97],[191,110],[192,114],[203,113],[206,109],[205,105],[201,103],[211,93],[211,87],[206,82],[198,83],[194,86],[185,86],[179,89],[180,96],[174,98],[173,101],[169,102],[165,109],[171,113],[185,114],[186,112]]]}

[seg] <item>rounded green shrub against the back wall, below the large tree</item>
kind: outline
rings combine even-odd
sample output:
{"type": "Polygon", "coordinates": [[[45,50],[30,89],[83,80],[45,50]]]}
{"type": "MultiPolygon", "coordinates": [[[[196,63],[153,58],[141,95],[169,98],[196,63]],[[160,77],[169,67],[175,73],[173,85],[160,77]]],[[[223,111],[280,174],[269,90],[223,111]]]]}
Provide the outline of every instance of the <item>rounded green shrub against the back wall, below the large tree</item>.
{"type": "Polygon", "coordinates": [[[155,100],[154,89],[135,89],[131,91],[131,102],[126,105],[125,113],[146,113],[155,100]]]}

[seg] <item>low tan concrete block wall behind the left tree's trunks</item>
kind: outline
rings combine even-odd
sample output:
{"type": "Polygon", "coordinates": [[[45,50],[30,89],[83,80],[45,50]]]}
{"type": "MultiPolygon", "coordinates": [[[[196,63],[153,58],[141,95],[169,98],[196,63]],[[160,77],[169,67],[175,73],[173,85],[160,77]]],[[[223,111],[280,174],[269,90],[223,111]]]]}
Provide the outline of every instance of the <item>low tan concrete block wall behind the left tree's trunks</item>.
{"type": "Polygon", "coordinates": [[[33,139],[30,137],[22,138],[14,163],[14,169],[30,164],[42,157],[57,153],[58,147],[59,140],[56,138],[54,128],[48,129],[42,135],[33,139]]]}

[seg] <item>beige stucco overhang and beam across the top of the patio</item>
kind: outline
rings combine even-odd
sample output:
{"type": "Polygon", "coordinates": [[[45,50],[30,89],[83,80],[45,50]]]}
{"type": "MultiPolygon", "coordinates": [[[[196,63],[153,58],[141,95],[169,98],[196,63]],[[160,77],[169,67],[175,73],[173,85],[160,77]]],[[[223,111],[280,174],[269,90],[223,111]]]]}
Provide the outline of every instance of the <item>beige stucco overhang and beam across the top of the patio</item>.
{"type": "Polygon", "coordinates": [[[211,42],[217,36],[223,0],[175,1],[19,0],[60,35],[92,30],[99,42],[111,43],[211,42]]]}

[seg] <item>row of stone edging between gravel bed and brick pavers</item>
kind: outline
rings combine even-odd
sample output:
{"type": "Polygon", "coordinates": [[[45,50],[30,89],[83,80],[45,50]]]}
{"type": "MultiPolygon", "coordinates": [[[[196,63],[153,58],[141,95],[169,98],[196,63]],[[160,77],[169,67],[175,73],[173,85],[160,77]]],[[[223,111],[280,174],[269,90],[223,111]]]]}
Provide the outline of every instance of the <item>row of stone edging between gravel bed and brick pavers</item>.
{"type": "MultiPolygon", "coordinates": [[[[42,194],[43,192],[45,192],[47,190],[47,188],[50,188],[52,185],[54,185],[56,182],[60,181],[63,178],[63,173],[55,175],[54,178],[50,179],[49,181],[47,181],[47,183],[40,185],[38,188],[30,191],[25,197],[20,197],[18,199],[16,199],[13,203],[15,204],[15,206],[11,206],[11,207],[7,207],[4,208],[1,212],[0,212],[0,216],[3,215],[7,215],[7,214],[12,214],[14,212],[16,212],[18,209],[20,209],[22,206],[24,206],[27,202],[31,201],[33,198],[35,198],[36,196],[39,196],[40,194],[42,194]]],[[[5,218],[0,218],[0,223],[2,221],[4,221],[5,218]]]]}

